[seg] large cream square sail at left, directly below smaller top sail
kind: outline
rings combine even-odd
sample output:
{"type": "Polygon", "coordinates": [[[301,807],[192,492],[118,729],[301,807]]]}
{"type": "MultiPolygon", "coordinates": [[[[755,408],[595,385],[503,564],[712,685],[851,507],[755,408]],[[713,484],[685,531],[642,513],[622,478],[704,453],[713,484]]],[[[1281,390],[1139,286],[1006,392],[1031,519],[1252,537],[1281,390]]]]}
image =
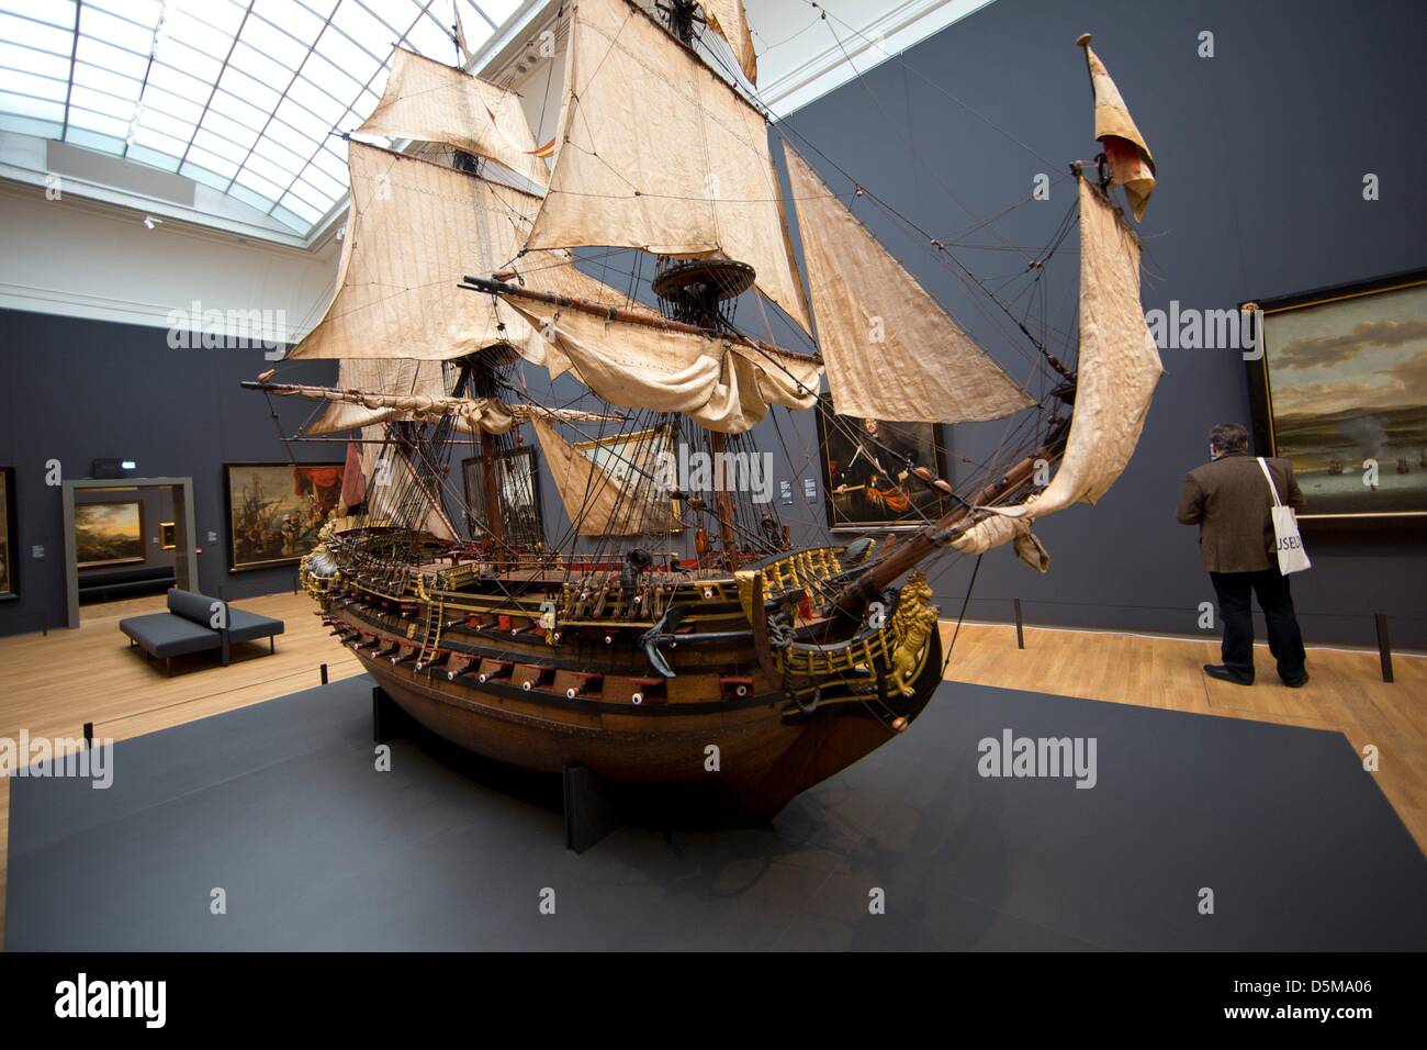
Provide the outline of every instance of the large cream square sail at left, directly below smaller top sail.
{"type": "MultiPolygon", "coordinates": [[[[538,197],[361,143],[350,144],[348,167],[352,207],[337,294],[288,357],[441,361],[509,344],[532,364],[564,370],[518,313],[457,289],[464,274],[489,273],[519,254],[538,197]]],[[[565,251],[531,251],[517,270],[539,291],[656,316],[577,270],[565,251]]]]}

